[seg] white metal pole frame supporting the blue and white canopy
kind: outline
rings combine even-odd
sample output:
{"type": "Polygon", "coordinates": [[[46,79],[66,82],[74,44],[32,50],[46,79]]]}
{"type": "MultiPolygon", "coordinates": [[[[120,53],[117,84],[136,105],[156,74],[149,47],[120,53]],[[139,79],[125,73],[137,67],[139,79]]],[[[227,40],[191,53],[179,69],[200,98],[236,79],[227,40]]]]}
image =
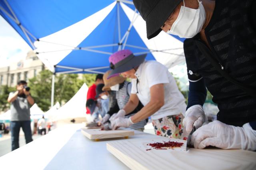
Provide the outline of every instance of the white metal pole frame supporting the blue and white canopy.
{"type": "MultiPolygon", "coordinates": [[[[114,44],[105,44],[105,45],[97,45],[97,46],[89,46],[89,47],[72,47],[69,46],[70,49],[73,50],[84,50],[84,51],[92,51],[95,53],[102,53],[102,54],[108,54],[111,55],[112,53],[106,52],[106,51],[99,51],[96,50],[95,48],[98,47],[114,47],[114,46],[118,46],[118,51],[121,49],[124,49],[126,46],[127,47],[133,47],[133,48],[138,48],[138,49],[143,49],[145,51],[143,52],[138,52],[138,53],[134,53],[134,55],[141,55],[144,53],[152,53],[152,52],[163,52],[163,53],[169,53],[169,54],[174,54],[174,55],[178,55],[175,53],[170,53],[170,52],[166,52],[167,50],[170,49],[165,49],[165,50],[154,50],[154,49],[148,49],[145,47],[139,47],[136,45],[130,45],[127,44],[127,40],[130,34],[130,30],[134,24],[134,22],[136,21],[136,19],[138,18],[138,16],[140,15],[139,12],[135,9],[134,10],[134,16],[132,21],[130,22],[130,26],[128,27],[127,31],[125,32],[125,34],[121,37],[121,33],[120,33],[120,2],[123,2],[124,4],[131,4],[133,5],[132,1],[128,1],[128,0],[113,0],[116,1],[117,3],[117,21],[118,21],[118,43],[114,43],[114,44]]],[[[35,36],[33,36],[24,26],[22,26],[22,24],[20,23],[20,21],[18,20],[17,16],[15,15],[14,11],[12,10],[12,8],[10,7],[10,5],[8,4],[7,0],[4,0],[4,3],[6,4],[6,6],[8,7],[8,10],[10,10],[10,13],[8,13],[4,8],[2,8],[2,6],[0,6],[0,10],[2,10],[8,17],[10,17],[22,30],[22,32],[24,33],[24,35],[26,36],[28,42],[30,43],[30,45],[32,46],[32,48],[35,50],[36,47],[34,45],[34,42],[36,41],[40,41],[38,38],[36,38],[35,36]],[[32,38],[32,39],[31,39],[32,38]]],[[[52,43],[52,42],[46,42],[46,43],[52,43]]],[[[63,45],[63,44],[58,44],[58,45],[63,45]]],[[[68,46],[68,45],[64,45],[64,46],[68,46]]],[[[177,48],[176,48],[177,49],[177,48]]],[[[62,51],[62,50],[59,50],[62,51]]],[[[49,53],[49,52],[56,52],[56,51],[44,51],[41,53],[49,53]]],[[[39,53],[36,53],[39,54],[39,53]]],[[[183,55],[180,55],[183,56],[183,55]]],[[[51,107],[53,107],[54,104],[54,81],[55,81],[55,68],[62,68],[62,69],[69,69],[70,71],[62,71],[62,72],[58,72],[58,74],[66,74],[66,73],[78,73],[81,71],[86,71],[89,73],[103,73],[100,71],[96,71],[97,69],[105,69],[105,68],[109,68],[108,66],[106,67],[94,67],[94,68],[87,68],[87,69],[82,69],[82,68],[75,68],[75,67],[67,67],[67,66],[63,66],[63,65],[55,65],[54,66],[54,71],[52,74],[52,93],[51,93],[51,107]]]]}

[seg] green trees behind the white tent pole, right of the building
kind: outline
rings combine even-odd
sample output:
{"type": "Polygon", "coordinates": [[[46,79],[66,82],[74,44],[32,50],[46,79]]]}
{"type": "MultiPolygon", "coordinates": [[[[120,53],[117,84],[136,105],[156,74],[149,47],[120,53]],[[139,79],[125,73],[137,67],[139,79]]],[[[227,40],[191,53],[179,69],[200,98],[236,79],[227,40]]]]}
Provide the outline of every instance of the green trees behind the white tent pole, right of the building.
{"type": "MultiPolygon", "coordinates": [[[[96,74],[84,74],[82,79],[78,78],[78,74],[57,74],[55,76],[54,102],[66,103],[84,83],[90,86],[94,83],[95,78],[96,74]]],[[[52,72],[41,71],[36,77],[29,79],[28,86],[30,86],[31,95],[38,106],[43,111],[47,111],[51,105],[52,72]]]]}

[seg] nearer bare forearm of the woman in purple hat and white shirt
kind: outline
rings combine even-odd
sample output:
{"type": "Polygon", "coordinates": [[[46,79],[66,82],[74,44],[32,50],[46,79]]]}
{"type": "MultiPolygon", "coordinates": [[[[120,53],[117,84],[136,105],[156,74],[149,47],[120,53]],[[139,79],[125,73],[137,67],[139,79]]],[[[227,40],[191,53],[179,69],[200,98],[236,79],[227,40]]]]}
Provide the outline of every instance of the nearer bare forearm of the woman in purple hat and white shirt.
{"type": "Polygon", "coordinates": [[[138,123],[144,119],[147,119],[154,113],[156,113],[164,103],[157,101],[150,101],[146,106],[144,106],[138,113],[131,117],[133,123],[138,123]]]}

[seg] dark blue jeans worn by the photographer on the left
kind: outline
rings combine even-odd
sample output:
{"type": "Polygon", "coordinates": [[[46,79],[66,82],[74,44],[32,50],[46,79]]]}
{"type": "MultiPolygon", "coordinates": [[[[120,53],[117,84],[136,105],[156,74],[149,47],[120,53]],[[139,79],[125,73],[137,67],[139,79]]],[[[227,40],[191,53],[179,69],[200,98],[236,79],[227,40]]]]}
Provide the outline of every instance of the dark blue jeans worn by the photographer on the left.
{"type": "Polygon", "coordinates": [[[19,146],[20,127],[22,127],[22,130],[25,134],[26,144],[33,141],[30,121],[11,121],[10,129],[12,133],[12,151],[20,147],[19,146]]]}

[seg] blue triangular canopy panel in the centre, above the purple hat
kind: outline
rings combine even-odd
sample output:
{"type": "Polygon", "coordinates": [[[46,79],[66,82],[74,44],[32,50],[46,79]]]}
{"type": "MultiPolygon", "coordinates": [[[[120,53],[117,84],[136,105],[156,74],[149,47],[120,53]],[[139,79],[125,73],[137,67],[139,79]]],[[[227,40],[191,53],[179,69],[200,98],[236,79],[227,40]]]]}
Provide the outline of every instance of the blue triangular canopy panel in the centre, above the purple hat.
{"type": "MultiPolygon", "coordinates": [[[[126,14],[120,9],[120,33],[121,38],[126,33],[129,28],[130,21],[126,14]]],[[[118,22],[117,22],[117,5],[108,14],[108,16],[100,23],[100,25],[82,42],[78,47],[88,47],[94,45],[106,45],[106,44],[118,44],[118,22]]],[[[127,44],[136,45],[138,47],[147,48],[144,42],[141,40],[140,36],[132,27],[130,30],[130,35],[127,40],[127,44]]],[[[137,49],[134,47],[125,47],[125,49],[130,49],[134,53],[146,52],[144,49],[137,49]]],[[[114,53],[118,51],[118,45],[112,47],[99,47],[94,48],[94,50],[104,51],[108,53],[114,53]]],[[[91,51],[84,50],[74,50],[69,55],[67,55],[62,61],[58,63],[61,66],[76,67],[80,69],[89,69],[94,67],[108,66],[109,54],[95,53],[91,51]],[[77,62],[79,61],[79,62],[77,62]]],[[[154,60],[151,53],[148,53],[147,60],[154,60]]],[[[61,72],[64,69],[56,68],[56,72],[61,72]]],[[[106,71],[107,69],[104,69],[106,71]]],[[[97,70],[98,71],[98,70],[97,70]]]]}

